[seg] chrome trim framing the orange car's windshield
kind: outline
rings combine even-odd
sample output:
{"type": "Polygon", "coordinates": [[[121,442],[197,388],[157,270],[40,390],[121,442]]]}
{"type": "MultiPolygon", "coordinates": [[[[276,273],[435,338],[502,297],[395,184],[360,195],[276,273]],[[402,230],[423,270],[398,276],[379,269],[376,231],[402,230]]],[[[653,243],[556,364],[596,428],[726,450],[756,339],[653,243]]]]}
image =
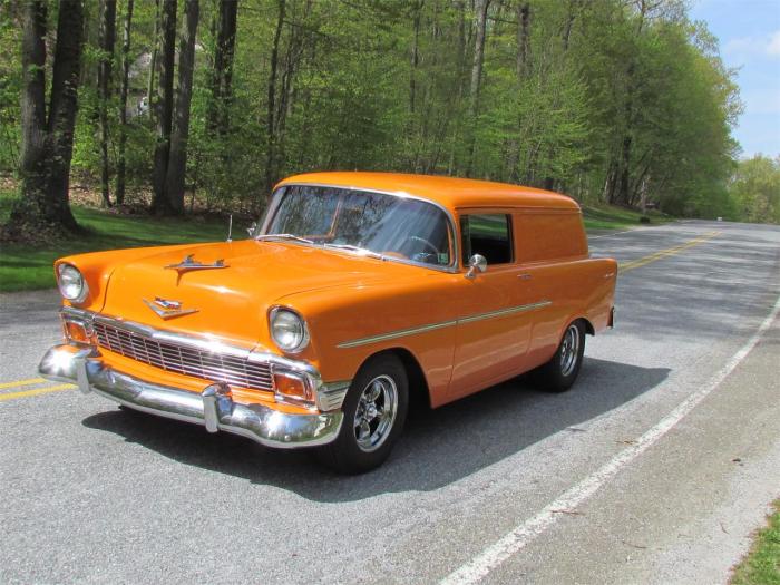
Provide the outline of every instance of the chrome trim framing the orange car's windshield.
{"type": "MultiPolygon", "coordinates": [[[[324,187],[324,188],[335,188],[335,189],[347,189],[347,191],[359,191],[363,193],[377,193],[379,195],[391,195],[393,197],[399,197],[402,199],[413,199],[413,201],[421,201],[423,203],[428,203],[432,205],[433,207],[437,207],[438,209],[442,211],[445,213],[445,217],[447,218],[447,224],[449,227],[449,237],[451,238],[452,243],[452,256],[450,257],[450,263],[447,266],[439,266],[437,264],[427,264],[425,262],[416,262],[413,260],[404,260],[404,259],[398,259],[393,256],[384,256],[382,255],[382,259],[377,259],[380,260],[381,262],[397,262],[399,264],[409,264],[410,266],[420,266],[423,269],[429,269],[429,270],[436,270],[439,272],[449,272],[449,273],[458,273],[460,272],[460,267],[458,264],[458,259],[460,257],[460,250],[458,246],[458,232],[456,231],[456,224],[455,224],[455,216],[452,213],[441,205],[440,203],[437,203],[435,201],[428,199],[426,197],[419,197],[417,195],[411,195],[406,192],[393,192],[393,191],[382,191],[382,189],[372,189],[372,188],[367,188],[367,187],[354,187],[354,186],[348,186],[348,185],[333,185],[329,183],[285,183],[284,185],[279,185],[274,189],[273,198],[271,201],[271,204],[269,205],[269,211],[265,214],[265,218],[263,220],[263,224],[259,227],[257,231],[255,231],[254,234],[252,234],[252,238],[254,240],[259,235],[266,235],[269,226],[274,220],[274,216],[276,215],[276,211],[279,208],[279,204],[281,203],[282,196],[283,195],[277,195],[276,192],[283,187],[324,187]]],[[[295,242],[295,241],[287,241],[285,243],[290,243],[293,245],[302,245],[302,246],[309,246],[309,247],[319,247],[319,246],[311,246],[310,244],[304,244],[303,242],[295,242]]],[[[324,250],[331,250],[334,252],[344,252],[350,255],[355,255],[354,252],[351,252],[349,250],[338,250],[335,247],[325,247],[324,250]]],[[[370,257],[370,256],[368,256],[370,257]]]]}

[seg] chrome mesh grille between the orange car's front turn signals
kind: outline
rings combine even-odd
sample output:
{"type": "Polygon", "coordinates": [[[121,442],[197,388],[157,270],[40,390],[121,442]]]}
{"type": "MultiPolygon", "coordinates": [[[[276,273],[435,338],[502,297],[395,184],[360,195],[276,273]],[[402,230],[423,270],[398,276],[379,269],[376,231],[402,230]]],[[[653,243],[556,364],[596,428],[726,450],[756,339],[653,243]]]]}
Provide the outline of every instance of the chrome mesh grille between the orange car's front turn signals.
{"type": "Polygon", "coordinates": [[[271,367],[267,363],[255,363],[236,355],[211,353],[178,343],[157,341],[103,322],[96,321],[92,328],[98,345],[125,358],[212,382],[273,390],[271,367]]]}

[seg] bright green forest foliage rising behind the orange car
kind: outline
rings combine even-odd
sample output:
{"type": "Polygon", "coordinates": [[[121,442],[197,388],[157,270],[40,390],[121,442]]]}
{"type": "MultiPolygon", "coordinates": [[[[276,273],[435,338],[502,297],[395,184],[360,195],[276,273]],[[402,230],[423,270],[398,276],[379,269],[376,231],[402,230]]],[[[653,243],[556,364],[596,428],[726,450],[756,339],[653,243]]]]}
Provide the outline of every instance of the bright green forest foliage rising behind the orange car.
{"type": "MultiPolygon", "coordinates": [[[[472,4],[285,0],[269,128],[280,0],[242,0],[232,99],[220,106],[230,126],[214,131],[207,120],[215,104],[217,6],[202,2],[187,205],[194,195],[198,206],[256,213],[267,197],[266,174],[277,179],[316,169],[382,169],[470,172],[554,188],[588,205],[653,202],[677,215],[758,217],[761,205],[771,207],[738,194],[737,179],[730,183],[738,153],[731,129],[741,108],[733,71],[724,68],[705,27],[689,21],[682,2],[490,2],[476,116],[469,95],[472,4]],[[518,9],[525,4],[527,51],[520,64],[518,9]]],[[[119,2],[118,31],[124,10],[119,2]]],[[[86,181],[97,181],[100,163],[98,17],[90,4],[74,155],[74,172],[86,181]]],[[[133,111],[147,91],[155,18],[154,2],[136,1],[133,111]]],[[[0,169],[14,165],[8,153],[18,150],[19,33],[11,21],[0,21],[0,169]]],[[[119,70],[117,62],[115,75],[119,70]]],[[[111,170],[117,108],[110,108],[111,170]]],[[[134,193],[143,201],[149,191],[154,146],[148,114],[130,116],[130,201],[134,193]]]]}

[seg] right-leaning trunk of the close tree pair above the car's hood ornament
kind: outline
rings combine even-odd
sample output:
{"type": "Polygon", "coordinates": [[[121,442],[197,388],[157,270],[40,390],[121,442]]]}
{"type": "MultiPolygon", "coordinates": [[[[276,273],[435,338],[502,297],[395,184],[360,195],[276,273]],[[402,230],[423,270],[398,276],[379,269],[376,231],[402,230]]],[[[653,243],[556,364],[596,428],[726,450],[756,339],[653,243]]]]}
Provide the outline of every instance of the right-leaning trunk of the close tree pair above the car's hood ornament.
{"type": "Polygon", "coordinates": [[[187,139],[189,137],[189,104],[193,97],[193,70],[195,68],[195,35],[197,32],[198,0],[185,0],[184,23],[178,45],[178,79],[170,136],[165,191],[170,209],[184,213],[184,178],[187,170],[187,139]]]}

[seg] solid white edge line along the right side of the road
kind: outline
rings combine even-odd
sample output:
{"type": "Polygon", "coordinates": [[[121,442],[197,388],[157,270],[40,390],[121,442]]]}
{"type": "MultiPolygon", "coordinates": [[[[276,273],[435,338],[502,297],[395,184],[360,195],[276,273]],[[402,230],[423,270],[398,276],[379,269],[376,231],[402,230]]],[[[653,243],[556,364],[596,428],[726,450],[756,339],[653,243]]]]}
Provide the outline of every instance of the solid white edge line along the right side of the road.
{"type": "Polygon", "coordinates": [[[739,351],[731,357],[731,359],[718,371],[718,373],[715,373],[715,376],[710,380],[709,384],[683,400],[676,408],[674,408],[674,410],[672,410],[654,427],[642,435],[642,437],[637,439],[636,443],[623,449],[592,475],[587,476],[568,490],[564,491],[554,501],[547,504],[547,506],[536,514],[536,516],[528,518],[498,542],[487,547],[471,560],[450,573],[440,582],[441,585],[478,583],[482,579],[482,577],[487,576],[490,571],[499,566],[515,553],[519,552],[535,537],[555,524],[560,516],[559,514],[556,514],[556,510],[574,509],[588,499],[604,484],[617,475],[623,467],[636,459],[659,439],[666,435],[666,432],[674,428],[704,398],[706,398],[710,392],[718,388],[760,341],[764,332],[771,326],[779,311],[780,296],[774,302],[774,306],[767,319],[763,320],[759,329],[744,343],[744,345],[742,345],[739,351]]]}

